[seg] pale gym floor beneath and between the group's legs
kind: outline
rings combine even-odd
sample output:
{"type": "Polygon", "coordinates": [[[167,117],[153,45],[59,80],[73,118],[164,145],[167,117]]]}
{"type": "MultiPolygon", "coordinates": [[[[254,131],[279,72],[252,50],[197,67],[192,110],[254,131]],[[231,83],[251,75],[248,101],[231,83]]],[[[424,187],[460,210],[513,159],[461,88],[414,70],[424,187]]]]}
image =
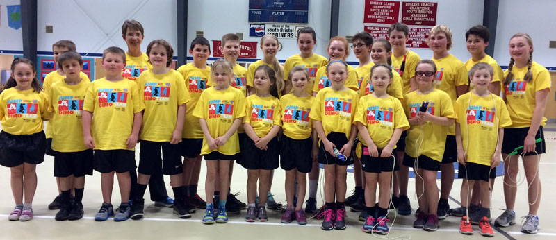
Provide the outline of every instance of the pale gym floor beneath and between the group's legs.
{"type": "MultiPolygon", "coordinates": [[[[521,216],[528,214],[527,202],[527,182],[523,182],[518,187],[516,198],[516,225],[509,228],[502,228],[505,232],[495,232],[493,239],[556,239],[556,218],[553,220],[552,214],[556,214],[556,207],[550,201],[556,199],[556,191],[550,191],[550,184],[555,181],[556,162],[556,124],[548,124],[545,128],[546,148],[548,153],[542,155],[539,167],[539,175],[543,183],[543,194],[541,198],[541,209],[539,210],[540,228],[538,234],[523,234],[521,230],[521,216]],[[552,227],[550,227],[552,226],[552,227]]],[[[140,148],[140,144],[138,145],[140,148]]],[[[139,151],[136,151],[136,160],[139,159],[139,151]]],[[[372,239],[371,234],[361,232],[362,222],[357,220],[359,213],[347,210],[347,228],[342,231],[332,230],[323,231],[320,229],[322,221],[310,219],[307,225],[297,225],[295,221],[290,224],[280,223],[281,213],[268,211],[269,221],[265,223],[247,223],[244,220],[245,210],[240,215],[230,215],[229,222],[226,224],[215,223],[204,225],[201,218],[204,214],[202,209],[197,209],[197,213],[192,218],[180,219],[172,214],[171,208],[154,207],[154,203],[145,200],[145,218],[140,221],[128,220],[116,223],[109,219],[104,222],[93,220],[101,203],[100,174],[95,172],[92,177],[87,176],[85,183],[85,196],[83,205],[85,207],[85,217],[79,221],[58,222],[54,220],[57,210],[49,210],[47,205],[58,194],[56,180],[52,176],[54,169],[54,157],[46,156],[44,162],[37,167],[38,187],[33,200],[34,219],[28,222],[8,221],[8,214],[13,210],[14,202],[10,192],[10,170],[5,167],[0,168],[0,239],[342,239],[349,236],[350,239],[372,239]]],[[[525,175],[520,164],[521,174],[518,180],[523,180],[525,175]]],[[[205,166],[202,167],[201,180],[199,180],[199,196],[204,198],[204,176],[205,166]]],[[[247,193],[245,182],[247,171],[238,164],[234,168],[234,178],[231,182],[232,193],[241,192],[238,199],[246,202],[247,193]]],[[[172,196],[172,189],[169,185],[170,179],[165,176],[167,191],[172,196]]],[[[502,193],[502,177],[498,177],[493,189],[491,216],[498,217],[505,208],[504,196],[502,193]]],[[[409,179],[409,198],[411,207],[417,207],[415,197],[414,178],[409,179]]],[[[457,207],[459,203],[459,189],[461,180],[455,180],[452,194],[450,195],[450,207],[457,207]],[[455,201],[457,200],[457,202],[455,201]]],[[[353,189],[353,177],[347,175],[347,189],[353,189]]],[[[286,203],[284,192],[284,171],[277,169],[275,172],[272,193],[275,194],[277,202],[286,203]]],[[[147,191],[146,195],[149,194],[147,191]]],[[[318,205],[322,204],[322,184],[319,183],[318,205]]],[[[349,196],[350,193],[348,192],[349,196]]],[[[145,196],[149,199],[149,196],[145,196]]],[[[120,203],[120,193],[117,182],[113,189],[113,205],[116,207],[120,203]]],[[[394,211],[389,214],[393,216],[394,211]]],[[[309,216],[308,216],[309,218],[309,216]]],[[[472,236],[460,234],[460,218],[448,216],[440,221],[440,228],[436,232],[424,232],[412,228],[414,216],[398,216],[393,223],[390,238],[397,239],[426,239],[434,237],[437,239],[480,239],[478,226],[473,226],[475,233],[472,236]]],[[[377,236],[377,235],[375,235],[377,236]]]]}

